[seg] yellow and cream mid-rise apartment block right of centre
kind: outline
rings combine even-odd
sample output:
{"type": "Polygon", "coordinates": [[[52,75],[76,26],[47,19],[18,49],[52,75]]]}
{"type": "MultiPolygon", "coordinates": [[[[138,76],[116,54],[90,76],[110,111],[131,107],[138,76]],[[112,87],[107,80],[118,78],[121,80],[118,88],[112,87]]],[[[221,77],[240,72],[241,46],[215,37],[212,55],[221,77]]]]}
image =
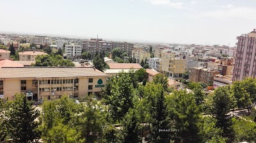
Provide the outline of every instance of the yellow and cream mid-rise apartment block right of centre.
{"type": "Polygon", "coordinates": [[[162,70],[169,77],[182,77],[186,71],[186,59],[163,57],[162,70]]]}

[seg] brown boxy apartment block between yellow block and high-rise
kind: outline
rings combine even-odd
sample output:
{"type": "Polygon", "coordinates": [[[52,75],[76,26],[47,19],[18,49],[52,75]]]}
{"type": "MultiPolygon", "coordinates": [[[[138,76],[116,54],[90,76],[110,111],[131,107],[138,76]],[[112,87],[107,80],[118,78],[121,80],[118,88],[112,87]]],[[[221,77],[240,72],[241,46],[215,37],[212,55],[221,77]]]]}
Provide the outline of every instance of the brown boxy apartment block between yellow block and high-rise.
{"type": "Polygon", "coordinates": [[[190,80],[192,82],[204,82],[205,84],[213,85],[214,75],[220,74],[219,70],[210,68],[190,68],[190,80]]]}

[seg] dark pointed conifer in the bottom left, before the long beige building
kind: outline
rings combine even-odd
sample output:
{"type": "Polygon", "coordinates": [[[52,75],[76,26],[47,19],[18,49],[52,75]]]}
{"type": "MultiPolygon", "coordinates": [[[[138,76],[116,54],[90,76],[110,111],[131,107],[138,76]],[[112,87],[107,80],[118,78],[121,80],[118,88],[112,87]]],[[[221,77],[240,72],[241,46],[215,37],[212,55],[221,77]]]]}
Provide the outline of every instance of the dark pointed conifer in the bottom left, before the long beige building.
{"type": "Polygon", "coordinates": [[[38,139],[38,123],[35,119],[39,111],[32,104],[24,94],[15,94],[12,109],[8,112],[10,136],[14,142],[33,142],[38,139]]]}

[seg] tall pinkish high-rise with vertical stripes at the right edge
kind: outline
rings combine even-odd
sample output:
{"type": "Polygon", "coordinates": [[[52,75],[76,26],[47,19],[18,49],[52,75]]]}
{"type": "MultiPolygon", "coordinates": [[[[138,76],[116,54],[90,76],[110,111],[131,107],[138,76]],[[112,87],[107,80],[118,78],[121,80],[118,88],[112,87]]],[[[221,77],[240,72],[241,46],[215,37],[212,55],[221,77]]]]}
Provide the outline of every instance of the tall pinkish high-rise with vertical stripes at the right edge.
{"type": "Polygon", "coordinates": [[[256,30],[237,37],[233,81],[256,77],[256,30]]]}

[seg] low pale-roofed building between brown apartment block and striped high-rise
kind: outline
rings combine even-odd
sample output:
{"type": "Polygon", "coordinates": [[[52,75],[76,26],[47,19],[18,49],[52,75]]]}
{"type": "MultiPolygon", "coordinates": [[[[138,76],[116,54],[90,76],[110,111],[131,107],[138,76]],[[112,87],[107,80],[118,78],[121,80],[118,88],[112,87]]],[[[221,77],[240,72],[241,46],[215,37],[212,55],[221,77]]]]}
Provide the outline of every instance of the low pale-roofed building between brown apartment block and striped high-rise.
{"type": "Polygon", "coordinates": [[[216,89],[221,86],[228,86],[232,84],[232,75],[214,75],[213,78],[213,89],[216,89]]]}

